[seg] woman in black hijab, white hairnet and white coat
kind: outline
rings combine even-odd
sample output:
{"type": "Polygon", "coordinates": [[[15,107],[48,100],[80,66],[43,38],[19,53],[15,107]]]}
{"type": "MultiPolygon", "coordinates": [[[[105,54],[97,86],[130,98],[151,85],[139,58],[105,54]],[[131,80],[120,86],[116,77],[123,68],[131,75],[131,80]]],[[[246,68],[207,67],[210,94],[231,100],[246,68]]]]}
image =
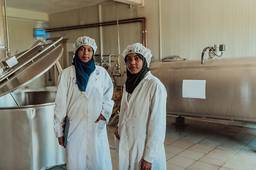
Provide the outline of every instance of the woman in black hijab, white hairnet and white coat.
{"type": "Polygon", "coordinates": [[[122,96],[116,149],[119,169],[166,169],[166,89],[149,71],[151,51],[140,43],[123,52],[127,81],[122,96]]]}

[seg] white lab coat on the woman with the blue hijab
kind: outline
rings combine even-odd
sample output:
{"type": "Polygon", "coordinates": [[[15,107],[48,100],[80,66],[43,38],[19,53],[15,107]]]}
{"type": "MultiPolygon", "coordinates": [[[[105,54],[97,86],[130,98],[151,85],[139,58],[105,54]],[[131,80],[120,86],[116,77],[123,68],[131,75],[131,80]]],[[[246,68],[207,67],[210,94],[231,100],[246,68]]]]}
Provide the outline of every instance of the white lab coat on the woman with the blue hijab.
{"type": "Polygon", "coordinates": [[[62,125],[68,115],[68,169],[112,169],[106,129],[114,106],[112,95],[112,80],[103,67],[96,66],[85,91],[78,89],[73,65],[61,72],[55,98],[54,130],[56,137],[63,136],[62,125]],[[100,114],[106,121],[95,123],[100,114]]]}

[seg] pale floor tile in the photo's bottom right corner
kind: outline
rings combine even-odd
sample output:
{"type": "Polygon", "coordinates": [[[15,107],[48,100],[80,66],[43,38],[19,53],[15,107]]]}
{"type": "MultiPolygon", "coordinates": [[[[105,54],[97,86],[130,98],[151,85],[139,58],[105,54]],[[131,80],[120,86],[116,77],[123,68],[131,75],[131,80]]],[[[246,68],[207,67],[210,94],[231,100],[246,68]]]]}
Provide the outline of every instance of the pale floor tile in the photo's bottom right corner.
{"type": "Polygon", "coordinates": [[[223,167],[233,170],[252,170],[255,165],[230,159],[227,163],[223,165],[223,167]]]}

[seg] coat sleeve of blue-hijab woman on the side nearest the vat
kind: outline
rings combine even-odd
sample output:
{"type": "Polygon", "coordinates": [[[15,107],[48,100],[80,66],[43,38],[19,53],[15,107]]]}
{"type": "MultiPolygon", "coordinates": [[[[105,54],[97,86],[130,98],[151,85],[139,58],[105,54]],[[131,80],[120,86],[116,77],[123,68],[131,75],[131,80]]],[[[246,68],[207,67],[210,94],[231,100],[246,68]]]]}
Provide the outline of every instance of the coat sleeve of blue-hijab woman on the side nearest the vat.
{"type": "Polygon", "coordinates": [[[68,91],[68,77],[63,72],[58,77],[57,94],[55,97],[54,108],[54,131],[56,137],[63,136],[63,125],[65,116],[67,115],[67,91],[68,91]]]}

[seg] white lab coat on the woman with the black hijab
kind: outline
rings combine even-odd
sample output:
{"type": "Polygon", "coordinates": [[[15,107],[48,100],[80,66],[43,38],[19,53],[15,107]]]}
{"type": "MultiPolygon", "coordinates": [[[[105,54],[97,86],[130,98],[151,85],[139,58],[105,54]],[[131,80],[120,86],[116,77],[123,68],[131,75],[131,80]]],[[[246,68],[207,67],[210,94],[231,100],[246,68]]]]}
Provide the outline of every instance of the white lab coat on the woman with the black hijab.
{"type": "Polygon", "coordinates": [[[115,139],[119,169],[137,170],[146,157],[154,158],[152,170],[166,169],[166,89],[148,72],[134,89],[129,102],[122,96],[118,133],[115,139]]]}

